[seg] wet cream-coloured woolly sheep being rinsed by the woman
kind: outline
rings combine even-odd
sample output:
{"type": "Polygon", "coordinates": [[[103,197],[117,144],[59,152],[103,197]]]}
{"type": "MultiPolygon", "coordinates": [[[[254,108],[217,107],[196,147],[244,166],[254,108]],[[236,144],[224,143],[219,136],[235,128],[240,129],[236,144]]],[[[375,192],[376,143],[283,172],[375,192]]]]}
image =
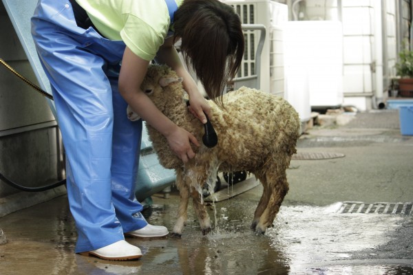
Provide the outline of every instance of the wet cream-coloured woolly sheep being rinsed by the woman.
{"type": "MultiPolygon", "coordinates": [[[[187,109],[182,78],[166,65],[149,65],[141,88],[170,120],[202,140],[204,126],[187,109]]],[[[218,144],[208,148],[193,146],[195,157],[183,163],[168,146],[165,137],[147,124],[149,139],[165,168],[176,171],[180,192],[178,217],[171,236],[180,237],[187,222],[189,196],[193,199],[202,234],[211,230],[209,214],[203,204],[202,186],[215,182],[218,171],[246,170],[264,187],[255,209],[252,230],[264,234],[273,225],[288,192],[286,169],[296,153],[300,120],[295,109],[283,98],[241,87],[222,96],[223,107],[212,100],[211,123],[218,144]]],[[[134,111],[127,109],[129,119],[134,111]]]]}

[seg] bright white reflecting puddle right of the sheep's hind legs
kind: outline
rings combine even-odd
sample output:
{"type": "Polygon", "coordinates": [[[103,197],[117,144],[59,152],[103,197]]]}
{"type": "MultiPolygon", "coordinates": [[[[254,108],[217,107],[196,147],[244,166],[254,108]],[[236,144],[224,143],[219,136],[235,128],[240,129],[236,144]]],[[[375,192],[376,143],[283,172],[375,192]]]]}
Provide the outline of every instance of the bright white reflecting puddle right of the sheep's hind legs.
{"type": "MultiPolygon", "coordinates": [[[[388,272],[389,268],[398,266],[373,267],[368,263],[370,260],[377,261],[373,258],[377,258],[377,254],[381,253],[380,248],[392,241],[393,233],[401,227],[405,217],[337,214],[337,208],[340,206],[341,203],[326,208],[282,208],[275,227],[269,230],[267,235],[271,238],[271,247],[284,255],[286,265],[290,267],[289,274],[391,274],[382,273],[380,270],[388,272]],[[360,259],[363,259],[363,264],[353,263],[360,259]],[[346,265],[335,265],[339,261],[345,261],[346,265]],[[324,268],[319,268],[320,266],[324,268]],[[372,273],[359,273],[354,268],[359,271],[369,269],[372,273]],[[354,273],[348,273],[346,270],[354,273]]],[[[411,267],[406,268],[412,271],[411,267]]]]}

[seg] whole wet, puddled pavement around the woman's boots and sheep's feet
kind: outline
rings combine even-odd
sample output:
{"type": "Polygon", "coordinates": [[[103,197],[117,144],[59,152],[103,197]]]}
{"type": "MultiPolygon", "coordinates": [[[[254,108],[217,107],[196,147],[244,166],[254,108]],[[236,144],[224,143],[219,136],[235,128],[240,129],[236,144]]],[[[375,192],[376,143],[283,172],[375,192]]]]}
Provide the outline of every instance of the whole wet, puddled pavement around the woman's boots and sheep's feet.
{"type": "MultiPolygon", "coordinates": [[[[182,239],[128,238],[144,254],[130,262],[74,254],[65,198],[60,208],[43,203],[3,218],[9,234],[0,247],[0,274],[413,274],[411,215],[340,213],[342,203],[286,201],[274,227],[257,235],[250,225],[259,199],[260,192],[251,190],[209,206],[213,230],[206,236],[190,206],[182,239]]],[[[173,228],[176,200],[153,206],[148,221],[173,228]]]]}

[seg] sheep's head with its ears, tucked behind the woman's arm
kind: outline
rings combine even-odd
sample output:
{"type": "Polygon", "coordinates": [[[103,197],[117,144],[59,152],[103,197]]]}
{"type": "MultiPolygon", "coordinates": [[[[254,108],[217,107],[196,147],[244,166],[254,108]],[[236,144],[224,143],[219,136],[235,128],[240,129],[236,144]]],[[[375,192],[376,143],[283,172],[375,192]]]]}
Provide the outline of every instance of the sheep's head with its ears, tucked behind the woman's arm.
{"type": "MultiPolygon", "coordinates": [[[[184,89],[180,83],[182,83],[182,78],[167,65],[149,65],[140,89],[151,98],[153,104],[160,111],[165,113],[167,104],[176,102],[177,98],[182,102],[184,89]],[[173,88],[173,85],[179,85],[176,87],[178,89],[165,89],[166,87],[173,88]]],[[[131,121],[140,119],[139,115],[129,105],[127,107],[127,117],[131,121]]]]}

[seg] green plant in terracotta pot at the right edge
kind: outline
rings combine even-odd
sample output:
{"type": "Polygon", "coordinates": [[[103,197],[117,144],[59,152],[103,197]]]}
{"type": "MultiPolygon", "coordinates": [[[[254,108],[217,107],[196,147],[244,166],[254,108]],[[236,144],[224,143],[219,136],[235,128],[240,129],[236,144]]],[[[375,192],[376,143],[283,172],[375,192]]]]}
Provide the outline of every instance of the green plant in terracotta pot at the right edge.
{"type": "Polygon", "coordinates": [[[403,50],[399,52],[396,74],[400,76],[397,80],[400,96],[413,97],[413,51],[403,50]]]}

